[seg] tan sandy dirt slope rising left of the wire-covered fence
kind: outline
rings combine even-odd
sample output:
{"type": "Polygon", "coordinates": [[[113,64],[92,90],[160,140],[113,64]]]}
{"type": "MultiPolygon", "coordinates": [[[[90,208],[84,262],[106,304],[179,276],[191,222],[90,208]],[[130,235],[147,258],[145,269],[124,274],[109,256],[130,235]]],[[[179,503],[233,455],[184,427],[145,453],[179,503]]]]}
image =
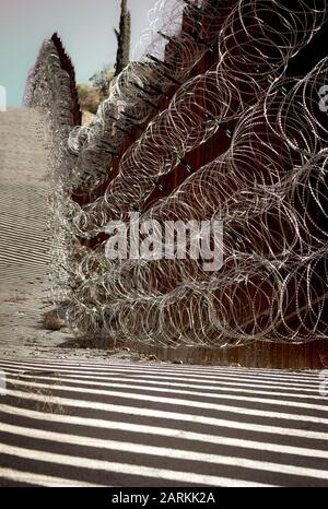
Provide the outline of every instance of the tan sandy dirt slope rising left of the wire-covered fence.
{"type": "Polygon", "coordinates": [[[0,113],[0,355],[27,357],[115,356],[126,351],[81,347],[68,330],[46,331],[50,310],[48,142],[42,116],[27,108],[0,113]]]}

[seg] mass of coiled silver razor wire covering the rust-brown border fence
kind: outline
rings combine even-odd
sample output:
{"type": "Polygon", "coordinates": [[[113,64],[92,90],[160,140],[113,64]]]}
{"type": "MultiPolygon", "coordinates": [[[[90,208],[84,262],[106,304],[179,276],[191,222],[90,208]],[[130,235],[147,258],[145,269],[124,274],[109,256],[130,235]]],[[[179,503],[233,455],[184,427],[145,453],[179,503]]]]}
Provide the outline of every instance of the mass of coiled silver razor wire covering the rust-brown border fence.
{"type": "Polygon", "coordinates": [[[323,1],[294,10],[273,0],[157,2],[144,56],[69,138],[60,129],[69,105],[47,92],[54,51],[45,47],[30,81],[60,132],[54,161],[65,154],[52,164],[52,233],[66,276],[55,274],[83,334],[213,347],[327,338],[328,122],[319,90],[328,59],[305,76],[285,75],[326,17],[323,1]],[[216,62],[195,75],[209,51],[216,62]],[[186,155],[219,132],[229,149],[188,168],[186,155]],[[181,163],[189,177],[147,208],[159,179],[181,163]],[[211,273],[188,257],[108,260],[106,226],[131,211],[162,225],[222,220],[224,265],[211,273]]]}

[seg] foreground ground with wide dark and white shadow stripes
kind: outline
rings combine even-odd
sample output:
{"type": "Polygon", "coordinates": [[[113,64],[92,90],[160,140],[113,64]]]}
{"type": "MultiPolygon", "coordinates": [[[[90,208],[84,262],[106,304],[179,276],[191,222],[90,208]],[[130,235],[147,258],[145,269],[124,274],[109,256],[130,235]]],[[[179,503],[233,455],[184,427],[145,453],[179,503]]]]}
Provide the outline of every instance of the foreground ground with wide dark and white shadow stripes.
{"type": "Polygon", "coordinates": [[[0,484],[326,486],[316,372],[2,360],[0,484]]]}

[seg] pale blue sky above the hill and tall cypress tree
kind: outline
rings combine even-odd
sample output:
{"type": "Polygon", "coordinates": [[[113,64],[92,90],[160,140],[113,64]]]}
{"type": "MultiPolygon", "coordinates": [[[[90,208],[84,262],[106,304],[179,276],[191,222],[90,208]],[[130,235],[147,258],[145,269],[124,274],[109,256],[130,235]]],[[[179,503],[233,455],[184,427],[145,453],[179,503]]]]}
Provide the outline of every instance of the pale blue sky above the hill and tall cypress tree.
{"type": "MultiPolygon", "coordinates": [[[[128,0],[132,15],[132,48],[154,0],[128,0]]],[[[8,105],[19,106],[28,69],[43,40],[61,36],[75,66],[78,82],[85,82],[105,63],[114,63],[120,0],[0,0],[0,85],[8,105]]]]}

